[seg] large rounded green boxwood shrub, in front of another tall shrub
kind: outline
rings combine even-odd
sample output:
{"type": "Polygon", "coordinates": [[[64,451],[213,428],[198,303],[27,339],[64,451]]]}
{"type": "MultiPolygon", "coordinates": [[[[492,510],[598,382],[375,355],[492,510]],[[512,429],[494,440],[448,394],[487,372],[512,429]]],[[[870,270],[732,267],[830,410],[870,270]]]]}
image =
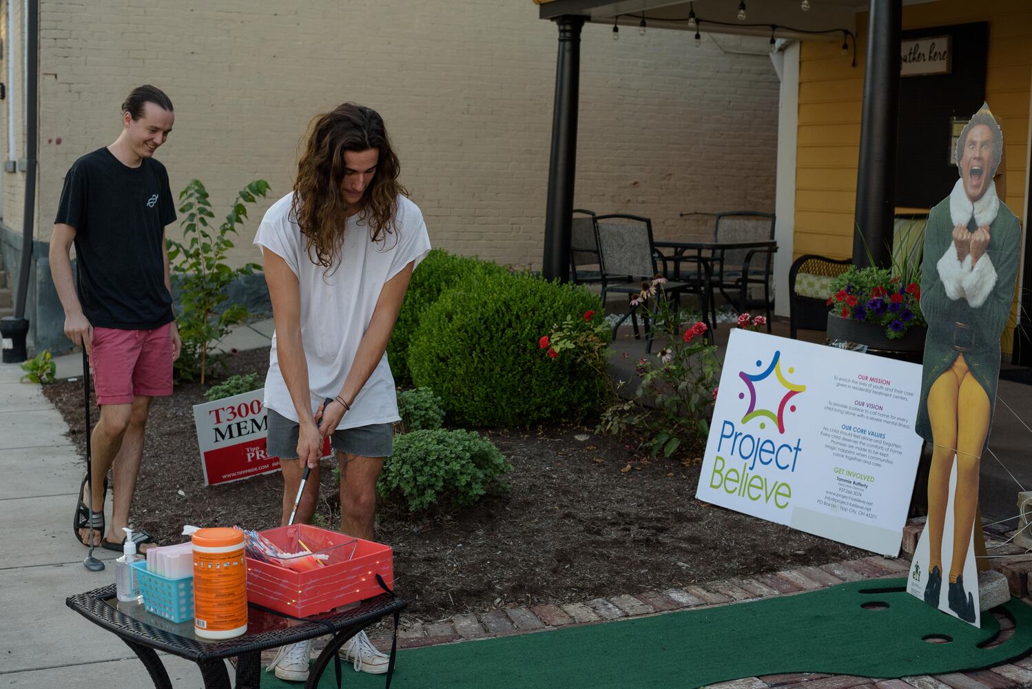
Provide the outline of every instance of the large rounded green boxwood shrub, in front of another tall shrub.
{"type": "Polygon", "coordinates": [[[583,287],[525,274],[471,276],[426,309],[409,368],[457,426],[580,420],[602,404],[605,380],[574,357],[548,358],[538,340],[586,310],[601,313],[602,303],[583,287]]]}

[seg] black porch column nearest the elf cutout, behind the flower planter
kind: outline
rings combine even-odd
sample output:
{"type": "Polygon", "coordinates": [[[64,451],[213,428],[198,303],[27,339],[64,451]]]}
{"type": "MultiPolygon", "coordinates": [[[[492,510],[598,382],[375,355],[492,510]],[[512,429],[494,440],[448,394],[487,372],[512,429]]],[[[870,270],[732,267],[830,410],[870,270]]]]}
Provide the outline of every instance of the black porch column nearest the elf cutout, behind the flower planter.
{"type": "Polygon", "coordinates": [[[902,22],[902,0],[871,0],[852,240],[853,263],[862,266],[868,253],[877,266],[892,264],[902,22]]]}

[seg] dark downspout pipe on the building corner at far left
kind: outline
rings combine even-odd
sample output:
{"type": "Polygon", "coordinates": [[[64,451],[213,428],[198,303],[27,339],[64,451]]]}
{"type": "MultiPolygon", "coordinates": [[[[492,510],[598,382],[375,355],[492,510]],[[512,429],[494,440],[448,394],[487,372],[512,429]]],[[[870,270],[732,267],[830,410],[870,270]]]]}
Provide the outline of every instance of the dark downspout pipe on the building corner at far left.
{"type": "Polygon", "coordinates": [[[26,337],[29,321],[25,318],[25,301],[29,288],[29,273],[32,270],[32,240],[34,212],[36,209],[36,147],[39,90],[39,0],[26,0],[26,65],[25,65],[25,212],[22,224],[22,264],[18,274],[18,292],[14,301],[14,317],[0,323],[5,339],[10,338],[10,348],[4,348],[3,361],[18,363],[25,361],[28,353],[26,337]]]}

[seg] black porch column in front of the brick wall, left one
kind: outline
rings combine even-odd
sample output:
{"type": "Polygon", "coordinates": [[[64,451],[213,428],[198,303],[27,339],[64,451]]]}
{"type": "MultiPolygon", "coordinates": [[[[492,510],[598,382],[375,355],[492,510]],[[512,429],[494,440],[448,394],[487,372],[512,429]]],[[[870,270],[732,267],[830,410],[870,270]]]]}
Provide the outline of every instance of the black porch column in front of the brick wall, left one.
{"type": "Polygon", "coordinates": [[[583,17],[563,14],[559,55],[555,64],[552,111],[552,153],[548,163],[548,205],[545,209],[545,254],[541,272],[546,280],[570,280],[570,226],[574,210],[577,168],[577,99],[580,91],[580,32],[583,17]]]}

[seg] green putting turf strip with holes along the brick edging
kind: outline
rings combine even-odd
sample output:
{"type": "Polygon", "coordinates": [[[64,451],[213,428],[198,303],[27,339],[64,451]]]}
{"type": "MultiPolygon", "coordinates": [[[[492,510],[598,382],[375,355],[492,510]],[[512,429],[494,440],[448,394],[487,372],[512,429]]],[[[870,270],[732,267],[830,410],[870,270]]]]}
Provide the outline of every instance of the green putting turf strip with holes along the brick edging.
{"type": "MultiPolygon", "coordinates": [[[[903,589],[904,580],[853,582],[794,596],[668,613],[480,642],[399,651],[396,689],[698,687],[743,677],[827,672],[874,678],[938,675],[999,665],[1032,648],[1032,608],[1003,610],[1014,633],[992,615],[981,629],[941,613],[903,589]],[[865,603],[888,604],[881,610],[865,603]],[[948,643],[924,641],[936,634],[948,643]]],[[[344,686],[383,687],[384,678],[344,665],[344,686]]],[[[263,687],[299,686],[263,674],[263,687]]],[[[320,687],[334,687],[332,664],[320,687]]]]}

